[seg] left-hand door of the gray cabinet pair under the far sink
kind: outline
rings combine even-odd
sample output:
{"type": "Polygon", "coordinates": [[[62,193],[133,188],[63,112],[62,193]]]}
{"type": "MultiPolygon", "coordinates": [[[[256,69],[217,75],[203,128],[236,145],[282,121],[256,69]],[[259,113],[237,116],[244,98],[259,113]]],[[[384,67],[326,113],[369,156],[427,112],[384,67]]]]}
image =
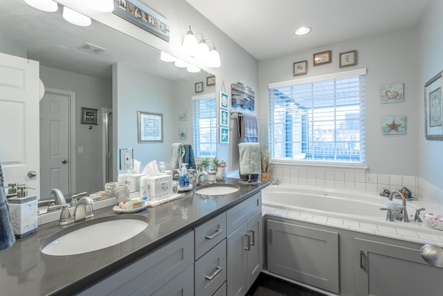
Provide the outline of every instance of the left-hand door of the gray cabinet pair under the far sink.
{"type": "Polygon", "coordinates": [[[245,295],[248,292],[248,251],[246,250],[248,225],[244,223],[227,238],[228,295],[245,295]]]}

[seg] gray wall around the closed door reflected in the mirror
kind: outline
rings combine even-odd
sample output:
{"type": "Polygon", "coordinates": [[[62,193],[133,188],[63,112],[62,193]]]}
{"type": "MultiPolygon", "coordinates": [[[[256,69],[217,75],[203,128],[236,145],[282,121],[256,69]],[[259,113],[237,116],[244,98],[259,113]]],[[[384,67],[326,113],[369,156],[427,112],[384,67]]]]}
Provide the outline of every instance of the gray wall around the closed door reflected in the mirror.
{"type": "Polygon", "coordinates": [[[75,144],[83,146],[83,153],[75,151],[76,191],[102,190],[102,127],[89,130],[80,124],[80,108],[111,108],[111,81],[44,66],[40,66],[40,79],[45,87],[75,92],[75,144]]]}

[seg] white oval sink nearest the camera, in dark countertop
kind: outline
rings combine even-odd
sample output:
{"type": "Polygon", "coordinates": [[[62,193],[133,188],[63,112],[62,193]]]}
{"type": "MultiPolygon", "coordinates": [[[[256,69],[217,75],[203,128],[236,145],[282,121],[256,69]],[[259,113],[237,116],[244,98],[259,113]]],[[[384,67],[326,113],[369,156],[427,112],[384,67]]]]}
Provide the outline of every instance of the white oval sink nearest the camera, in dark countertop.
{"type": "Polygon", "coordinates": [[[89,220],[46,238],[41,251],[52,256],[92,252],[123,243],[143,232],[146,227],[147,220],[143,216],[107,216],[89,220]]]}

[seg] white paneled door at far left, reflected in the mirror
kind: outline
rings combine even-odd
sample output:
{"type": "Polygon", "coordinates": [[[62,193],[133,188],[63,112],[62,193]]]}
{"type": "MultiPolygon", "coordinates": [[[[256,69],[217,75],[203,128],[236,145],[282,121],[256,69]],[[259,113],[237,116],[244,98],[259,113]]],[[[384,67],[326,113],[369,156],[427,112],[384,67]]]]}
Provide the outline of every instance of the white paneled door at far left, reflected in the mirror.
{"type": "Polygon", "coordinates": [[[5,184],[26,184],[40,196],[39,63],[0,53],[0,162],[5,184]],[[32,176],[33,174],[30,174],[32,176]]]}

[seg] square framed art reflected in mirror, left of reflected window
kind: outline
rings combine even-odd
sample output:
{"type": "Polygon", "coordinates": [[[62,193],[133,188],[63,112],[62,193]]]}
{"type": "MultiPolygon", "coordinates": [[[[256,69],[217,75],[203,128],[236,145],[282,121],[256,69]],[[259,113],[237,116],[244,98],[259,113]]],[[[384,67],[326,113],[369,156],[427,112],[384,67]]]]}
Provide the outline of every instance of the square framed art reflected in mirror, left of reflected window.
{"type": "Polygon", "coordinates": [[[163,143],[163,114],[137,111],[138,143],[163,143]]]}

